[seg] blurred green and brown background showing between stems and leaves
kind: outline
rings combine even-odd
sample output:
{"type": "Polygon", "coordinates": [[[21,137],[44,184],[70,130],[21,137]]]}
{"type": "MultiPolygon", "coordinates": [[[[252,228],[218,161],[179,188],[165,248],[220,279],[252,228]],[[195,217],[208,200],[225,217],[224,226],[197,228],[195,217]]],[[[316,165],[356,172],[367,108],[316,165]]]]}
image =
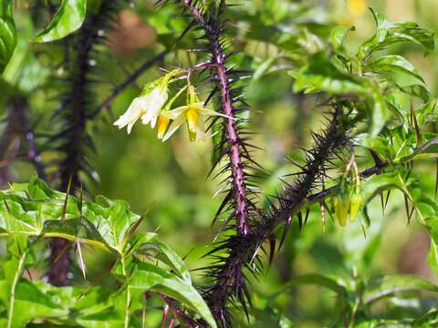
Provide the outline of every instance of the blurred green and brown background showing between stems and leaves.
{"type": "MultiPolygon", "coordinates": [[[[123,80],[124,69],[132,70],[140,66],[182,31],[184,22],[177,8],[165,6],[160,9],[161,14],[156,15],[157,8],[153,3],[136,1],[131,9],[120,12],[119,26],[109,37],[110,52],[101,58],[101,74],[110,81],[117,84],[123,80]],[[120,63],[120,66],[114,63],[120,63]]],[[[243,3],[234,9],[236,17],[257,16],[264,25],[281,26],[288,31],[285,33],[291,34],[297,28],[308,26],[312,37],[315,36],[308,46],[312,46],[312,42],[318,44],[318,37],[327,37],[331,26],[354,25],[356,31],[348,38],[348,45],[354,48],[369,37],[374,29],[372,16],[367,9],[369,6],[385,14],[388,20],[412,20],[438,31],[436,0],[253,0],[243,3]]],[[[25,7],[26,1],[17,1],[17,5],[25,7]]],[[[29,17],[21,14],[16,20],[18,28],[26,31],[29,17]]],[[[251,35],[253,27],[245,25],[244,19],[237,22],[233,26],[236,31],[233,44],[238,52],[237,58],[242,57],[245,66],[254,69],[272,55],[272,47],[269,42],[248,38],[247,34],[251,35]]],[[[423,56],[419,47],[415,46],[401,46],[396,51],[419,68],[436,95],[436,52],[423,56]]],[[[119,131],[112,126],[112,122],[128,108],[132,98],[138,95],[142,85],[159,76],[160,67],[186,66],[196,59],[192,55],[187,55],[181,49],[166,56],[159,66],[152,67],[137,84],[117,97],[110,110],[105,110],[101,115],[103,119],[89,125],[98,149],[96,154],[90,154],[89,159],[96,169],[96,177],[99,177],[99,183],[89,183],[89,193],[127,200],[133,211],[145,213],[142,229],[158,231],[161,239],[180,255],[186,255],[189,267],[196,269],[208,262],[201,257],[218,229],[218,226],[213,229],[210,226],[221,202],[221,196],[214,197],[219,188],[218,179],[206,178],[211,167],[211,141],[191,143],[187,132],[181,129],[168,142],[162,143],[156,138],[155,131],[140,124],[133,128],[129,136],[124,130],[119,131]]],[[[62,75],[62,72],[59,74],[62,75]]],[[[264,197],[280,189],[278,177],[293,171],[286,157],[299,159],[302,155],[297,146],[310,146],[309,131],[318,130],[321,125],[323,113],[315,107],[316,100],[294,95],[292,83],[286,73],[272,72],[249,81],[245,90],[252,108],[251,129],[258,133],[254,143],[264,149],[255,152],[255,160],[272,173],[270,178],[260,181],[260,191],[264,197]]],[[[111,87],[110,84],[99,87],[99,99],[105,98],[111,87]]],[[[99,103],[99,99],[96,103],[99,103]]],[[[52,108],[57,107],[53,95],[36,90],[32,96],[36,110],[47,110],[47,101],[52,108]]],[[[51,154],[45,156],[45,159],[49,159],[51,154]]],[[[371,165],[365,160],[360,164],[361,169],[371,165]]],[[[433,172],[433,166],[426,163],[417,170],[425,173],[424,188],[433,190],[434,176],[432,178],[428,173],[433,172]]],[[[26,181],[33,175],[33,168],[18,161],[9,167],[9,174],[13,180],[26,181]]],[[[284,313],[298,327],[320,327],[330,323],[335,311],[333,292],[305,286],[287,290],[275,302],[266,302],[265,297],[280,290],[293,276],[305,273],[316,272],[350,279],[357,270],[360,277],[368,280],[381,274],[401,272],[435,280],[426,262],[429,245],[427,234],[415,220],[410,226],[407,225],[401,193],[391,193],[384,214],[378,198],[373,200],[369,212],[371,226],[366,231],[366,238],[359,220],[350,223],[346,229],[340,229],[337,223],[328,218],[328,231],[322,233],[318,208],[312,210],[303,232],[299,233],[294,223],[284,249],[277,254],[260,281],[253,282],[255,304],[284,313]]],[[[106,259],[99,251],[90,249],[86,261],[92,276],[99,274],[106,259]]],[[[197,274],[193,272],[195,277],[197,274]]],[[[260,323],[266,326],[266,323],[260,323]]]]}

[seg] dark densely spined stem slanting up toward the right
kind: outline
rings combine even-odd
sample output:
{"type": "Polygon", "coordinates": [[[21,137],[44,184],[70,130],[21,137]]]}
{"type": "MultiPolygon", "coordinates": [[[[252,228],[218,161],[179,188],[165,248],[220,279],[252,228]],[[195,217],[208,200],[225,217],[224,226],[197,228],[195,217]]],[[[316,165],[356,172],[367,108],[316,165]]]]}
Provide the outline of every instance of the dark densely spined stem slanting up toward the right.
{"type": "Polygon", "coordinates": [[[249,301],[243,273],[245,266],[251,265],[264,242],[276,233],[278,226],[288,219],[290,221],[300,209],[324,169],[326,161],[334,151],[343,147],[345,138],[343,130],[339,130],[339,113],[336,112],[324,138],[318,139],[318,147],[312,151],[313,160],[303,169],[302,178],[298,179],[296,184],[287,187],[283,197],[279,199],[279,207],[271,213],[261,212],[262,220],[247,235],[231,236],[226,241],[228,255],[223,258],[218,272],[214,273],[215,282],[209,289],[212,312],[216,320],[224,326],[227,322],[226,302],[230,298],[242,302],[246,298],[249,301]]]}

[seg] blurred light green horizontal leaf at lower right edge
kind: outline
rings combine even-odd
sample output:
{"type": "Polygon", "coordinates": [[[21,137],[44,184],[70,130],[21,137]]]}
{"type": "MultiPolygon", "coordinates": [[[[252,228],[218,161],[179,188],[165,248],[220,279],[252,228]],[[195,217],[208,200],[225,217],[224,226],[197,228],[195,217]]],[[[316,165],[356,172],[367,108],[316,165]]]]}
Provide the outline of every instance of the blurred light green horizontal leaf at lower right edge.
{"type": "Polygon", "coordinates": [[[387,275],[370,282],[370,287],[365,292],[363,302],[368,305],[399,292],[415,291],[438,292],[438,286],[419,277],[387,275]]]}

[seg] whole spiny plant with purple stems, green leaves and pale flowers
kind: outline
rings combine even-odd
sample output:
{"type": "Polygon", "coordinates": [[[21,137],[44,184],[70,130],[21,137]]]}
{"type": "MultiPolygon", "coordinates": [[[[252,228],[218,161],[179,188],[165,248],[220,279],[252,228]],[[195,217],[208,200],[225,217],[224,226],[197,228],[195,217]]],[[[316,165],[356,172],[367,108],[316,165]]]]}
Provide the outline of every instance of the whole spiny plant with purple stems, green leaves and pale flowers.
{"type": "MultiPolygon", "coordinates": [[[[33,15],[27,16],[25,26],[49,23],[39,33],[26,32],[32,35],[30,44],[29,36],[20,36],[24,32],[16,28],[13,15],[18,26],[24,19],[21,2],[3,0],[0,6],[4,139],[18,138],[24,145],[8,153],[2,177],[12,180],[7,163],[23,158],[35,166],[38,176],[0,192],[0,236],[7,250],[0,275],[2,326],[144,327],[157,309],[162,327],[254,325],[262,309],[253,295],[269,301],[281,292],[260,294],[253,290],[251,277],[264,279],[260,273],[265,262],[274,261],[294,224],[309,233],[304,227],[315,220],[310,212],[319,210],[322,231],[359,225],[366,235],[372,222],[383,220],[370,215],[371,200],[380,197],[384,210],[394,200],[391,190],[399,190],[408,223],[415,217],[428,231],[429,264],[438,272],[438,205],[434,190],[424,185],[422,170],[417,169],[436,160],[436,99],[419,70],[395,53],[396,46],[406,44],[433,52],[431,30],[412,22],[391,23],[370,10],[375,31],[353,49],[345,45],[353,27],[328,23],[315,29],[310,22],[286,33],[281,26],[293,25],[296,13],[285,12],[277,26],[265,26],[266,16],[257,8],[254,15],[242,15],[224,0],[159,1],[149,15],[183,13],[183,28],[166,30],[165,49],[135,71],[123,70],[120,84],[97,101],[99,86],[104,85],[101,68],[111,55],[110,35],[117,29],[120,11],[130,4],[38,4],[26,1],[33,15]],[[48,14],[41,15],[46,9],[48,14]],[[257,34],[260,26],[273,33],[257,34]],[[262,39],[270,49],[264,62],[255,61],[256,67],[248,67],[257,56],[255,50],[239,48],[252,39],[262,39]],[[245,51],[243,56],[239,49],[245,51]],[[190,60],[164,60],[178,52],[186,52],[190,60]],[[147,214],[132,213],[122,200],[94,197],[89,189],[92,180],[99,183],[89,156],[99,154],[93,131],[103,120],[100,114],[151,67],[160,67],[161,76],[144,83],[120,118],[112,118],[112,125],[127,128],[128,134],[115,128],[111,134],[130,142],[133,129],[150,126],[157,138],[168,142],[186,127],[190,142],[213,140],[211,172],[221,181],[218,193],[223,200],[212,218],[218,223],[213,247],[204,254],[208,261],[198,269],[203,277],[196,283],[181,254],[159,241],[156,232],[141,229],[147,214]],[[24,83],[32,69],[41,79],[24,83]],[[43,80],[44,74],[53,78],[43,80]],[[271,74],[289,81],[300,97],[314,95],[314,110],[322,116],[318,131],[309,132],[312,145],[301,148],[303,159],[288,159],[287,168],[294,169],[266,195],[263,181],[273,174],[256,161],[255,154],[264,150],[252,138],[256,128],[248,118],[254,114],[245,90],[246,81],[256,83],[271,74]],[[57,98],[57,106],[44,108],[43,119],[33,108],[41,106],[33,97],[41,91],[57,98]],[[47,245],[50,255],[44,251],[47,245]],[[84,256],[89,247],[110,259],[97,279],[89,278],[84,256]],[[44,261],[47,273],[35,276],[44,261]]],[[[417,312],[402,300],[413,294],[419,303],[430,301],[422,292],[438,292],[433,282],[407,275],[368,279],[356,266],[352,271],[351,279],[320,272],[293,276],[283,291],[314,283],[336,292],[333,326],[436,324],[436,297],[432,305],[424,302],[427,308],[419,305],[417,312]],[[394,295],[397,315],[374,311],[377,301],[394,295]]],[[[278,326],[292,319],[274,310],[266,313],[278,326]]]]}

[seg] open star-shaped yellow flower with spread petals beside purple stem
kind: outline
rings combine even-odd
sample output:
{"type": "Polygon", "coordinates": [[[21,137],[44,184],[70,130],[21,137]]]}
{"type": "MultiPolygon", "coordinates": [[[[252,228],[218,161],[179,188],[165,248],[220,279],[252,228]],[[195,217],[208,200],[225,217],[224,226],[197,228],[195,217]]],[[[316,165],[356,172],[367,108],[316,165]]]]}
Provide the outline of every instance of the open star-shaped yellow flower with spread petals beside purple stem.
{"type": "Polygon", "coordinates": [[[189,86],[188,104],[186,106],[175,108],[168,112],[163,112],[162,115],[165,115],[167,118],[173,120],[169,130],[162,138],[162,141],[171,138],[172,134],[183,125],[184,121],[187,122],[190,141],[204,140],[204,117],[222,116],[228,118],[227,116],[217,113],[214,110],[204,108],[203,102],[199,101],[193,86],[189,86]]]}

